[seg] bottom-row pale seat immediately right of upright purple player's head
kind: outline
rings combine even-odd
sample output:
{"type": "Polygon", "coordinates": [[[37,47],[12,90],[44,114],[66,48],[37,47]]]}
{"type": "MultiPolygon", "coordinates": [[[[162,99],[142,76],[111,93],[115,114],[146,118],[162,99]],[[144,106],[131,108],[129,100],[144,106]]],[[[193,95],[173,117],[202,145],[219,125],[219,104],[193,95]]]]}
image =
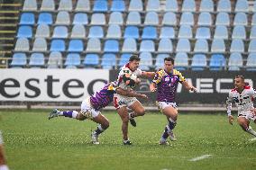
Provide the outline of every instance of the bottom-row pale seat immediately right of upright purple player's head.
{"type": "Polygon", "coordinates": [[[175,68],[186,70],[188,67],[188,57],[186,52],[178,52],[175,56],[175,68]]]}

